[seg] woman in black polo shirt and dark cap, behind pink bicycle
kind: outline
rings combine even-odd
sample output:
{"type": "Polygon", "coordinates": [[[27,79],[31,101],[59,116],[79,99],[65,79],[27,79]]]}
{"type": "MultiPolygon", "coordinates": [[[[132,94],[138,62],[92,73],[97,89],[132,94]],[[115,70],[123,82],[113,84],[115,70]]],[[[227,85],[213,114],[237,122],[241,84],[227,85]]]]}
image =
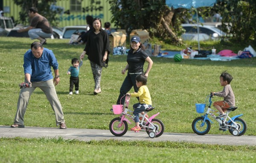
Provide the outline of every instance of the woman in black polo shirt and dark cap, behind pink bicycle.
{"type": "MultiPolygon", "coordinates": [[[[143,65],[148,62],[148,68],[145,71],[145,76],[148,77],[148,73],[153,65],[153,61],[149,58],[148,54],[144,51],[145,47],[140,42],[140,37],[134,36],[131,38],[130,50],[127,55],[127,65],[121,71],[122,74],[125,74],[125,71],[128,70],[127,76],[125,77],[124,82],[120,88],[120,94],[116,101],[116,104],[120,104],[120,99],[129,90],[131,87],[134,87],[134,92],[138,92],[139,88],[136,86],[136,76],[143,73],[143,65]]],[[[139,100],[139,98],[138,98],[139,100]]],[[[121,104],[124,104],[125,98],[122,98],[121,104]]],[[[111,109],[111,111],[113,111],[111,109]]]]}

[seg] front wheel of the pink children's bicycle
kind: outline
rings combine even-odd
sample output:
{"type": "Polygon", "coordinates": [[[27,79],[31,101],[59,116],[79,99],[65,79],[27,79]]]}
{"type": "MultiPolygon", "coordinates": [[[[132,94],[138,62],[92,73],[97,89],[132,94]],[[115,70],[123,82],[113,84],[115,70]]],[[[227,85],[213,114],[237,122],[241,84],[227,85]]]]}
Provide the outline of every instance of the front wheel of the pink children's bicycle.
{"type": "Polygon", "coordinates": [[[110,132],[115,136],[122,136],[125,135],[125,133],[128,130],[128,124],[126,121],[122,121],[121,127],[118,128],[118,125],[120,124],[120,118],[114,118],[109,124],[109,130],[110,132]]]}

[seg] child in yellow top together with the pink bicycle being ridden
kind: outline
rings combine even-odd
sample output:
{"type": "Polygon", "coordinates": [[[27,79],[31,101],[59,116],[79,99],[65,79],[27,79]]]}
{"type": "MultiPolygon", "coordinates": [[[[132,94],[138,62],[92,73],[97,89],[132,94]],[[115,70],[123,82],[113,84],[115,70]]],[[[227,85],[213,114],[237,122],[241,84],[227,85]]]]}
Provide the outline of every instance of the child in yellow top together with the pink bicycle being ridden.
{"type": "Polygon", "coordinates": [[[124,105],[113,105],[114,114],[121,114],[120,117],[114,118],[109,124],[109,129],[113,135],[122,136],[127,132],[127,122],[129,124],[131,124],[131,122],[126,117],[135,121],[135,126],[131,128],[131,131],[146,131],[150,138],[159,137],[163,134],[163,122],[158,119],[153,119],[159,112],[152,115],[150,118],[147,115],[147,112],[153,110],[154,107],[151,106],[151,97],[146,83],[147,77],[145,75],[141,74],[137,76],[136,85],[140,87],[138,93],[127,93],[123,96],[125,97],[124,105]],[[140,102],[133,105],[134,111],[128,110],[130,97],[140,97],[140,102]],[[131,113],[133,113],[134,116],[131,115],[131,113]]]}

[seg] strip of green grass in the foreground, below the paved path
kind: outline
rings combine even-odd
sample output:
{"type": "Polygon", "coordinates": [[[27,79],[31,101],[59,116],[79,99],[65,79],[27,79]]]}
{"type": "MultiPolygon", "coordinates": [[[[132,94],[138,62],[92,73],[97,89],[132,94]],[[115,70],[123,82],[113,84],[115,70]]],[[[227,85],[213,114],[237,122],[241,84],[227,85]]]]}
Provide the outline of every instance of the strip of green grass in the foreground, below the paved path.
{"type": "Polygon", "coordinates": [[[3,163],[253,163],[255,146],[0,138],[3,163]]]}

